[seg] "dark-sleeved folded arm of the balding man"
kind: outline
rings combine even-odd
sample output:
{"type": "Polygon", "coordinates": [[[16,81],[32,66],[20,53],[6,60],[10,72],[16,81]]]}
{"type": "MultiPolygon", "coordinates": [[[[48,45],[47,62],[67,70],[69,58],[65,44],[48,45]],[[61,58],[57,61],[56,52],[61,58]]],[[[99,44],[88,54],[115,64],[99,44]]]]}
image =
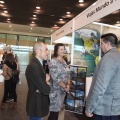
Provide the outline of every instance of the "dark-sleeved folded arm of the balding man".
{"type": "Polygon", "coordinates": [[[46,76],[43,75],[42,68],[38,64],[29,65],[26,69],[26,77],[28,82],[31,81],[42,94],[49,95],[50,87],[46,83],[46,76]]]}

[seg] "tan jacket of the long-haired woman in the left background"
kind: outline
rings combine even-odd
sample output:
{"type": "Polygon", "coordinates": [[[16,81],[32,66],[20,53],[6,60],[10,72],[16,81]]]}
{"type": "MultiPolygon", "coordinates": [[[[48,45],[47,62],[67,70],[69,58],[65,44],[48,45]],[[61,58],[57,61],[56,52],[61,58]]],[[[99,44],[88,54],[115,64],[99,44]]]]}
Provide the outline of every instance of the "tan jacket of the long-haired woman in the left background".
{"type": "Polygon", "coordinates": [[[5,80],[9,80],[12,77],[12,69],[9,68],[6,64],[3,64],[3,76],[5,80]]]}

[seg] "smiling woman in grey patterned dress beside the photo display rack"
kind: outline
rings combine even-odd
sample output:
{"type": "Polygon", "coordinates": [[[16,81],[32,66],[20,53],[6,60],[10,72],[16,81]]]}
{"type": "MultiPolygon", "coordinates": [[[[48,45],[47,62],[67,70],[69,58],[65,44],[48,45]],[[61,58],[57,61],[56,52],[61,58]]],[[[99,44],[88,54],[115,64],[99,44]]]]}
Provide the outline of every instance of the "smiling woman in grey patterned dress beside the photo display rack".
{"type": "Polygon", "coordinates": [[[58,114],[64,102],[66,92],[69,92],[69,68],[64,60],[65,46],[58,43],[54,47],[54,55],[49,65],[51,76],[50,115],[48,120],[58,120],[58,114]]]}

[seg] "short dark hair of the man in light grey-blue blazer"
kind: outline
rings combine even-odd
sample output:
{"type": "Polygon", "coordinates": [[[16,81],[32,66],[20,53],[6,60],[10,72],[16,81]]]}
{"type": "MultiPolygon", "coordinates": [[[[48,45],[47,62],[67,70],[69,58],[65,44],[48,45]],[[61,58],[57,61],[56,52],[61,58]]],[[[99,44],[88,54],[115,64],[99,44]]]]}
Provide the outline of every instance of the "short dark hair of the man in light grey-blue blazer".
{"type": "Polygon", "coordinates": [[[113,33],[104,34],[101,36],[101,39],[103,39],[104,43],[110,42],[112,47],[118,47],[118,38],[113,33]]]}

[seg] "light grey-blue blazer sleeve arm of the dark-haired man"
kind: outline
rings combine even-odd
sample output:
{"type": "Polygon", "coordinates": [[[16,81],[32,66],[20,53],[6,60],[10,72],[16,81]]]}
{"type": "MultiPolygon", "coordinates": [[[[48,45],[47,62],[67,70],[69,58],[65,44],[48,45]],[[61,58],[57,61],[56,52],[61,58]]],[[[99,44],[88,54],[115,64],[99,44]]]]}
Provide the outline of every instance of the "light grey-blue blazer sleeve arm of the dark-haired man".
{"type": "Polygon", "coordinates": [[[104,56],[100,61],[98,71],[97,73],[94,73],[96,74],[95,78],[93,76],[93,79],[95,80],[91,85],[86,102],[86,112],[88,114],[92,113],[95,108],[98,107],[100,100],[104,96],[116,70],[116,65],[114,63],[114,58],[111,58],[108,55],[104,56]]]}

